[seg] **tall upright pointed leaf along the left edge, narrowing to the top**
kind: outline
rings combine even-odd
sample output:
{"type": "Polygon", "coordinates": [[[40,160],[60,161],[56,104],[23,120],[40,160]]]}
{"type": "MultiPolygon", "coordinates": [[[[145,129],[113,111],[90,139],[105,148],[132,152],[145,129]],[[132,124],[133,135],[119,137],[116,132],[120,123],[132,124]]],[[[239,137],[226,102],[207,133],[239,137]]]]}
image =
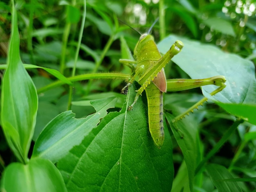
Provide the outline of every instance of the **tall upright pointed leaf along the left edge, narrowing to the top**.
{"type": "Polygon", "coordinates": [[[14,5],[11,26],[8,67],[2,81],[2,128],[11,150],[19,161],[25,163],[36,124],[38,98],[36,87],[20,59],[20,39],[14,5]]]}

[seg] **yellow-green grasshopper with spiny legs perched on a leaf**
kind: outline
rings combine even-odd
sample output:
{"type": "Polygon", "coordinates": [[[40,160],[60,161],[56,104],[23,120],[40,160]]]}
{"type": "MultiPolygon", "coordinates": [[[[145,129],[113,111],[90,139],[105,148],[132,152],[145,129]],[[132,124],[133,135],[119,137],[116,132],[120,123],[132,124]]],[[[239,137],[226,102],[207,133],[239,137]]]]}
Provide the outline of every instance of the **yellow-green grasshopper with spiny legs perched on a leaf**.
{"type": "MultiPolygon", "coordinates": [[[[141,87],[136,91],[134,102],[128,110],[131,110],[137,102],[142,92],[146,91],[148,100],[148,125],[150,134],[155,144],[160,148],[164,142],[164,125],[163,125],[163,92],[167,90],[166,77],[164,73],[165,65],[175,56],[180,53],[183,48],[183,43],[177,40],[171,48],[161,56],[154,42],[153,36],[149,35],[151,29],[157,20],[153,23],[147,33],[144,33],[139,38],[139,42],[134,49],[135,60],[120,59],[119,62],[128,65],[132,71],[133,76],[130,78],[128,84],[121,90],[124,92],[132,82],[136,79],[141,87]],[[153,82],[153,83],[151,83],[153,82]]],[[[215,76],[207,79],[172,79],[168,80],[168,91],[182,91],[200,87],[202,85],[217,85],[218,89],[213,91],[211,95],[220,92],[225,88],[225,77],[215,76]]],[[[189,108],[186,112],[177,116],[173,121],[183,118],[193,109],[202,105],[207,98],[203,98],[198,103],[189,108]]]]}

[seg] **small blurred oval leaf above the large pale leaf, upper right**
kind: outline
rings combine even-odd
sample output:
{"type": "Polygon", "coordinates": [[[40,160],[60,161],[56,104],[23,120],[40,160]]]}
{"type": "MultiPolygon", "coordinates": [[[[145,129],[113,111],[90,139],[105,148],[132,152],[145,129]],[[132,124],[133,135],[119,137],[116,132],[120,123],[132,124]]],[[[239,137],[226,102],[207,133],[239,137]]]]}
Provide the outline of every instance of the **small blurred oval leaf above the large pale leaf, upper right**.
{"type": "Polygon", "coordinates": [[[233,37],[236,36],[232,24],[222,18],[207,18],[206,20],[202,20],[202,22],[211,29],[219,31],[223,34],[227,34],[233,37]]]}

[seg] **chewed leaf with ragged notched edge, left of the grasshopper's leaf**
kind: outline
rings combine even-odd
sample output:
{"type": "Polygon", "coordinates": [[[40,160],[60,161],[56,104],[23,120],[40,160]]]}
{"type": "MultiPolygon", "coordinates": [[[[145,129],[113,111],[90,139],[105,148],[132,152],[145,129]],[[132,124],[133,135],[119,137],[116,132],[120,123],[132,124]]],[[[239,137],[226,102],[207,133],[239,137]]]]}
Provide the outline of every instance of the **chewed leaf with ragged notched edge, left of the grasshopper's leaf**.
{"type": "Polygon", "coordinates": [[[87,118],[76,119],[71,111],[56,116],[39,135],[32,158],[42,157],[52,162],[58,161],[67,152],[81,143],[85,135],[99,123],[99,119],[107,114],[107,109],[115,106],[115,98],[104,98],[91,102],[96,113],[87,118]]]}

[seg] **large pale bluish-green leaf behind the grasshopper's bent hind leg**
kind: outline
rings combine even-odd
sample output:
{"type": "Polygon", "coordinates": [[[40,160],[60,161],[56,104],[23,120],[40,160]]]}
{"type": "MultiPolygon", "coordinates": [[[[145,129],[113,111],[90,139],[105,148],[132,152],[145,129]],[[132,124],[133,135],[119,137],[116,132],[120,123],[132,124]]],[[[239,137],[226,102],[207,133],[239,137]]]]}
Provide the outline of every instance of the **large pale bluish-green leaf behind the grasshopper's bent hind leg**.
{"type": "Polygon", "coordinates": [[[252,62],[234,54],[224,53],[215,46],[203,45],[174,35],[158,44],[160,52],[166,53],[176,40],[181,40],[184,48],[172,60],[191,78],[223,75],[227,79],[227,87],[215,96],[209,96],[209,93],[216,89],[215,85],[202,87],[204,96],[222,103],[256,103],[255,67],[252,62]]]}

